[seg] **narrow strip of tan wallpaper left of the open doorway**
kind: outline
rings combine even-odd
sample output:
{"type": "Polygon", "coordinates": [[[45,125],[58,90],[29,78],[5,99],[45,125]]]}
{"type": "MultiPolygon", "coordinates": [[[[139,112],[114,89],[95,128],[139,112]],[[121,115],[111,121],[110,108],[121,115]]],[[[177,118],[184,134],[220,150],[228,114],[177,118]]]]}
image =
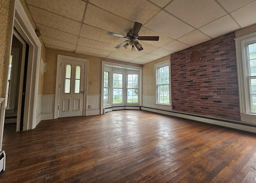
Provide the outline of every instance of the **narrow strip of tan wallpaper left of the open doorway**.
{"type": "Polygon", "coordinates": [[[10,1],[11,0],[0,0],[0,97],[3,95],[4,58],[8,36],[10,1]]]}

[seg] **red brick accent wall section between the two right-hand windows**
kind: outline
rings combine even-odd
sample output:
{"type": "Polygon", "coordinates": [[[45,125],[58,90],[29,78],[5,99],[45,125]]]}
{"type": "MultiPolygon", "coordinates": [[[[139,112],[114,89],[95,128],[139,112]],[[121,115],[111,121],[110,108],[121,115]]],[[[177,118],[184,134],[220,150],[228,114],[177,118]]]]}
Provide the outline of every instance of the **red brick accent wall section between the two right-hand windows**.
{"type": "Polygon", "coordinates": [[[171,55],[172,109],[240,120],[235,33],[171,55]],[[190,61],[200,51],[198,62],[190,61]]]}

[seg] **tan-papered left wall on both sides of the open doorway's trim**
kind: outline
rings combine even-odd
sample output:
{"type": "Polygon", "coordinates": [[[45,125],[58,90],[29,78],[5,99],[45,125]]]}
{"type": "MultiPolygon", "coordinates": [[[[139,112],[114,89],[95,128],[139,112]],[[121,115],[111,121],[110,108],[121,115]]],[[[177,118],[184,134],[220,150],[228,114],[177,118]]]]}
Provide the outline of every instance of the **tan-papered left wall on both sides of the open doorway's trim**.
{"type": "MultiPolygon", "coordinates": [[[[29,20],[32,24],[33,28],[36,29],[36,25],[33,22],[32,16],[26,6],[25,0],[20,0],[29,20]]],[[[8,29],[9,29],[9,19],[10,19],[10,4],[11,0],[1,0],[0,1],[0,96],[3,95],[3,87],[4,87],[4,71],[5,71],[5,55],[6,55],[6,46],[8,44],[8,29]]],[[[40,64],[40,71],[43,70],[44,65],[44,53],[45,53],[45,46],[42,41],[42,38],[39,38],[42,44],[41,47],[41,64],[40,64]]],[[[40,72],[39,81],[38,81],[38,94],[42,94],[42,86],[43,86],[43,72],[40,72]]]]}

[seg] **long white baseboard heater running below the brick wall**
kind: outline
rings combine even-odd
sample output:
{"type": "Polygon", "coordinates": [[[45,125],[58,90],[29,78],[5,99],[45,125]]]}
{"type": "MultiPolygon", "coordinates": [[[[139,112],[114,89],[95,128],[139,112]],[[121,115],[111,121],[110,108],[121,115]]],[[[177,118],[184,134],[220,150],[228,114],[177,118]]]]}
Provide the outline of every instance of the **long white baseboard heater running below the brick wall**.
{"type": "Polygon", "coordinates": [[[242,131],[248,131],[248,132],[256,133],[256,126],[255,125],[241,124],[241,123],[236,122],[236,121],[214,119],[214,118],[211,118],[211,117],[200,117],[200,116],[196,116],[196,115],[189,115],[189,114],[185,114],[185,113],[177,113],[177,112],[166,111],[166,110],[161,110],[161,109],[154,109],[154,108],[150,108],[150,107],[141,107],[141,109],[144,110],[144,111],[150,111],[150,112],[170,115],[170,116],[174,116],[174,117],[189,119],[189,120],[193,120],[193,121],[209,123],[209,124],[212,124],[212,125],[218,125],[218,126],[228,127],[228,128],[232,128],[232,129],[238,129],[238,130],[242,130],[242,131]]]}

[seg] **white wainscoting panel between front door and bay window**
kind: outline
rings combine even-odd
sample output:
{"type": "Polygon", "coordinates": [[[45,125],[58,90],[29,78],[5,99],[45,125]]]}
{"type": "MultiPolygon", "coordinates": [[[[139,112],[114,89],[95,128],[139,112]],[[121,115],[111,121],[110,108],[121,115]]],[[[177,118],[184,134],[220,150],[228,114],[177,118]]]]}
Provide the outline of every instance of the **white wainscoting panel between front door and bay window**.
{"type": "Polygon", "coordinates": [[[100,114],[100,94],[87,95],[86,115],[100,114]]]}

